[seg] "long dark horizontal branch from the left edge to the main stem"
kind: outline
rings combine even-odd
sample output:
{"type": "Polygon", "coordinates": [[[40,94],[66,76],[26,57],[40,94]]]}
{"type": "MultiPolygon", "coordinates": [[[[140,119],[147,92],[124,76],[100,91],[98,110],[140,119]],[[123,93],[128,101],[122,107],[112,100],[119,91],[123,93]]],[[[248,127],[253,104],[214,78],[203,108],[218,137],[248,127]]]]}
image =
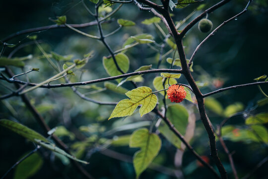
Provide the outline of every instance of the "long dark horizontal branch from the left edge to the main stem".
{"type": "MultiPolygon", "coordinates": [[[[131,77],[135,75],[142,75],[142,74],[150,74],[150,73],[161,73],[161,72],[170,72],[170,73],[182,73],[182,70],[176,70],[176,69],[153,69],[153,70],[145,70],[145,71],[139,71],[139,72],[133,72],[133,73],[128,73],[128,74],[123,74],[123,75],[118,75],[114,77],[108,77],[108,78],[102,78],[102,79],[97,79],[97,80],[91,80],[91,81],[85,81],[85,82],[76,82],[76,83],[67,83],[67,84],[56,84],[56,85],[41,85],[39,88],[62,88],[62,87],[73,87],[73,86],[84,86],[84,85],[89,85],[89,84],[94,84],[94,83],[100,83],[100,82],[106,82],[106,81],[111,81],[111,80],[116,80],[120,78],[125,78],[125,77],[131,77]]],[[[21,84],[24,85],[27,82],[19,81],[19,80],[11,80],[11,79],[5,79],[3,77],[0,77],[0,80],[5,80],[8,83],[14,83],[14,84],[21,84]]],[[[29,83],[28,86],[35,87],[38,84],[34,83],[29,83]]]]}

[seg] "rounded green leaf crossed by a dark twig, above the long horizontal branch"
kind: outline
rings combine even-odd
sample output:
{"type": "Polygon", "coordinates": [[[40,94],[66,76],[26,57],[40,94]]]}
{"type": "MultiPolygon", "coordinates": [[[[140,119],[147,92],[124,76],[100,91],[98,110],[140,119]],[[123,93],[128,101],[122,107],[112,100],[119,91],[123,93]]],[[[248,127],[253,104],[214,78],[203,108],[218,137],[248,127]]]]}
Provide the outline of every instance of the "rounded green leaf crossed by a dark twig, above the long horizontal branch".
{"type": "MultiPolygon", "coordinates": [[[[124,72],[127,73],[130,68],[130,60],[127,55],[123,53],[119,53],[115,56],[116,62],[119,66],[119,68],[124,72]]],[[[116,64],[114,63],[114,60],[111,58],[103,57],[103,66],[106,70],[106,72],[110,76],[118,76],[122,75],[122,73],[117,69],[116,64]]],[[[122,79],[117,79],[116,81],[118,83],[121,82],[122,79]]]]}

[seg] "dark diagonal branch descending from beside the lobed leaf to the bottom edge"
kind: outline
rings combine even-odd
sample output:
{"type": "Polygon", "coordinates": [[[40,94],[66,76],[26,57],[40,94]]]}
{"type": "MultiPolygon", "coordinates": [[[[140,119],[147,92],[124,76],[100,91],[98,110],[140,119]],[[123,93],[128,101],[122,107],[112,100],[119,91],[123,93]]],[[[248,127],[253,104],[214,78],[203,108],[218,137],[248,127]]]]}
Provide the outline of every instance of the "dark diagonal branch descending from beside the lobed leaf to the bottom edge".
{"type": "Polygon", "coordinates": [[[190,150],[190,152],[192,154],[194,154],[194,156],[197,158],[197,160],[199,160],[201,162],[201,164],[203,164],[207,169],[209,169],[213,174],[214,177],[217,179],[220,179],[217,172],[212,168],[212,166],[210,166],[208,163],[206,163],[197,153],[196,151],[193,149],[193,147],[184,139],[183,135],[174,127],[174,125],[170,122],[170,120],[166,117],[164,117],[161,112],[157,109],[154,109],[153,112],[155,112],[157,115],[159,115],[164,122],[168,125],[169,129],[182,141],[182,143],[185,144],[185,146],[188,148],[188,150],[190,150]]]}

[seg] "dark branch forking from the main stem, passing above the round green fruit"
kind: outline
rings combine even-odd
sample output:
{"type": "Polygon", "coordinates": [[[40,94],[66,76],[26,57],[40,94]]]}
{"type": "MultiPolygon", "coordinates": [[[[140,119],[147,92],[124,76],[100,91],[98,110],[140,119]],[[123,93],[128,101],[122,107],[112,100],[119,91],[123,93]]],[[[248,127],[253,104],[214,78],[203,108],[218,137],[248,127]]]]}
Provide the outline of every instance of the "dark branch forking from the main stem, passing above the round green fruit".
{"type": "Polygon", "coordinates": [[[213,12],[217,8],[221,7],[222,5],[226,4],[230,0],[222,0],[219,3],[213,5],[212,7],[206,9],[203,13],[201,13],[198,17],[196,17],[194,20],[192,20],[189,24],[186,25],[186,27],[182,30],[180,33],[181,37],[184,37],[185,34],[199,21],[201,18],[205,17],[206,14],[213,12]]]}

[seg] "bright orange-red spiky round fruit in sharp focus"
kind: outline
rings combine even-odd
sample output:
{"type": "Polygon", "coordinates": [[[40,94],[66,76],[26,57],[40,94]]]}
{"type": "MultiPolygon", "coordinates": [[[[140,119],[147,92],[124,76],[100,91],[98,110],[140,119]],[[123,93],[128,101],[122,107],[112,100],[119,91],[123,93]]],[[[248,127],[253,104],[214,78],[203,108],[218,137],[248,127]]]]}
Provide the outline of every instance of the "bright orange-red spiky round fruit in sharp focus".
{"type": "Polygon", "coordinates": [[[171,102],[182,102],[186,97],[186,91],[183,86],[171,85],[167,90],[167,96],[171,102]]]}

